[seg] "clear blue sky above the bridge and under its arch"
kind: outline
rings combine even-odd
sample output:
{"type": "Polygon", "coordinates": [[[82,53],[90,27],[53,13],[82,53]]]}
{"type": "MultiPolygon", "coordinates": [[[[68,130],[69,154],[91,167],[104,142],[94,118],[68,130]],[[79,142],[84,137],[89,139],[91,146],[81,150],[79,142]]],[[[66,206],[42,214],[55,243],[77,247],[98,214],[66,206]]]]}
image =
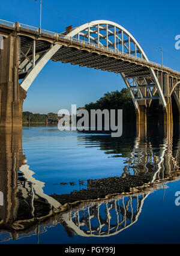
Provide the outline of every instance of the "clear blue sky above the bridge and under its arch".
{"type": "MultiPolygon", "coordinates": [[[[42,28],[65,31],[66,26],[82,25],[105,19],[119,23],[134,35],[149,60],[180,71],[180,50],[175,49],[175,36],[180,34],[180,2],[166,0],[143,1],[59,1],[42,0],[42,28]]],[[[40,23],[40,1],[1,1],[0,19],[32,26],[40,23]]],[[[120,75],[49,61],[28,90],[23,111],[58,112],[94,102],[107,91],[121,90],[120,75]]]]}

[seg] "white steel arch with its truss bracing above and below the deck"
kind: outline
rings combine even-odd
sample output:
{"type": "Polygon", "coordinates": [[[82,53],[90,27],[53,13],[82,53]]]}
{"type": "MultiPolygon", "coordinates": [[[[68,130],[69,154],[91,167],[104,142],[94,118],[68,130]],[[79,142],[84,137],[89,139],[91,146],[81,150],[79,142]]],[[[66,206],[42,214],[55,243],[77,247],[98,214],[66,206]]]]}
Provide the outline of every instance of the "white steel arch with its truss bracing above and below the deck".
{"type": "MultiPolygon", "coordinates": [[[[145,52],[143,52],[142,47],[140,47],[133,35],[114,22],[95,20],[94,22],[89,22],[71,29],[69,32],[63,32],[60,35],[82,44],[95,44],[102,49],[102,51],[113,49],[116,50],[116,52],[148,61],[145,52]]],[[[163,107],[166,107],[163,91],[154,69],[151,67],[146,67],[146,69],[138,67],[137,69],[137,64],[125,67],[125,65],[127,65],[126,61],[124,61],[122,65],[122,61],[117,62],[110,58],[104,58],[102,61],[101,58],[98,59],[98,56],[93,56],[93,59],[95,57],[97,58],[94,64],[91,61],[91,56],[88,56],[86,52],[83,52],[84,56],[82,62],[80,53],[79,55],[73,55],[72,51],[68,53],[67,47],[62,46],[62,44],[52,44],[47,41],[44,42],[43,40],[34,39],[29,41],[28,37],[21,35],[19,35],[19,39],[19,78],[23,79],[21,86],[26,91],[41,69],[52,59],[54,61],[71,62],[71,64],[95,67],[102,70],[112,70],[113,72],[120,73],[124,79],[125,85],[130,91],[136,109],[139,108],[139,101],[149,100],[149,102],[151,102],[151,100],[154,99],[160,99],[163,107]],[[64,50],[66,50],[66,55],[62,56],[64,50]],[[119,66],[119,63],[122,67],[119,66]]]]}

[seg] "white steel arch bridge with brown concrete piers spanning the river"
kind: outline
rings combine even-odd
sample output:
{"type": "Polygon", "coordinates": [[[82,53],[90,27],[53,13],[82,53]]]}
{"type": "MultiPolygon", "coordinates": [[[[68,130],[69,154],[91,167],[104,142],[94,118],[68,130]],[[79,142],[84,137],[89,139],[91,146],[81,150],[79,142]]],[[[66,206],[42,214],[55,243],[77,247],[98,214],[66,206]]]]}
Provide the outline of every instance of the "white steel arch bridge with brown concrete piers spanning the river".
{"type": "Polygon", "coordinates": [[[133,35],[115,22],[95,20],[57,33],[0,20],[0,37],[0,127],[22,126],[28,88],[50,59],[121,74],[137,124],[146,126],[154,101],[160,124],[173,123],[172,99],[180,116],[180,72],[149,61],[133,35]]]}

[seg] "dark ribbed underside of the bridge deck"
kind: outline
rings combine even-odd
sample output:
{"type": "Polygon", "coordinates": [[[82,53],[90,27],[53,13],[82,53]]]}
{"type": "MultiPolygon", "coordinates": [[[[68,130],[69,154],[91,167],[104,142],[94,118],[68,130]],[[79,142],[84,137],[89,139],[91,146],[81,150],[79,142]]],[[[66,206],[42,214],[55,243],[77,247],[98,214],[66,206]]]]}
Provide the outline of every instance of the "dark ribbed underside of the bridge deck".
{"type": "MultiPolygon", "coordinates": [[[[36,41],[35,53],[41,58],[44,52],[49,50],[50,47],[51,44],[46,41],[36,41]]],[[[31,38],[20,37],[20,51],[22,53],[20,62],[23,63],[27,57],[32,61],[33,46],[31,38]]],[[[109,54],[106,52],[99,54],[97,50],[93,49],[89,49],[88,52],[88,49],[62,46],[51,59],[52,61],[61,61],[63,63],[71,63],[73,65],[101,69],[109,72],[124,72],[127,76],[150,75],[148,67],[143,67],[142,65],[137,65],[130,61],[124,61],[121,58],[117,59],[116,56],[113,55],[109,57],[109,54]]],[[[26,72],[20,72],[19,78],[25,78],[27,73],[28,70],[26,72]]]]}

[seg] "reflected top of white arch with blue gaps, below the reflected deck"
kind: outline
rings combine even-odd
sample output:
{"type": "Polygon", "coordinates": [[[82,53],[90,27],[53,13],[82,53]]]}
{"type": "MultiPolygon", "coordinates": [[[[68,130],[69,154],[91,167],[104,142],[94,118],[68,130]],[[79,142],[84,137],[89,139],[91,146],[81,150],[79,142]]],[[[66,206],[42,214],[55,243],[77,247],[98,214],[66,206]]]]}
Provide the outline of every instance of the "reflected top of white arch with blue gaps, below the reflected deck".
{"type": "Polygon", "coordinates": [[[137,221],[148,194],[139,193],[89,202],[87,206],[62,214],[62,225],[79,236],[116,235],[137,221]]]}

